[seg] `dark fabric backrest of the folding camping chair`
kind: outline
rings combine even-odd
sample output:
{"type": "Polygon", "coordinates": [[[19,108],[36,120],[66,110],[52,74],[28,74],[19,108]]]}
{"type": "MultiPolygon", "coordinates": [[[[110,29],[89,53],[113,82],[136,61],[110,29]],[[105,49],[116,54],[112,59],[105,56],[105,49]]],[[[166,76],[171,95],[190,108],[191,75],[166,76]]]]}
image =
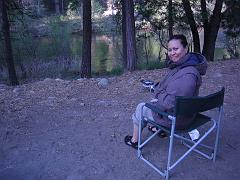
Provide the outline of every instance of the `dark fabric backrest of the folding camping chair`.
{"type": "Polygon", "coordinates": [[[175,115],[188,116],[221,107],[223,105],[224,92],[225,89],[223,87],[220,91],[203,97],[177,96],[175,99],[175,115]]]}

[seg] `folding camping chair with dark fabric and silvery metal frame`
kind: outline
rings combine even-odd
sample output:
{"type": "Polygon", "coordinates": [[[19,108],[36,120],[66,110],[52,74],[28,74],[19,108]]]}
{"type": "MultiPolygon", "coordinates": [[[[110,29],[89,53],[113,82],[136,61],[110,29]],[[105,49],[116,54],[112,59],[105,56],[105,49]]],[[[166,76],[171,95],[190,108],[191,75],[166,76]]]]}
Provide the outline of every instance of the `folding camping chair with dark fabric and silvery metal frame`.
{"type": "MultiPolygon", "coordinates": [[[[224,88],[222,88],[220,91],[210,94],[208,96],[204,97],[181,97],[178,96],[175,98],[175,107],[174,112],[172,114],[168,114],[166,112],[161,111],[156,106],[153,106],[152,104],[146,103],[145,106],[150,108],[152,111],[158,113],[159,115],[165,116],[169,119],[169,121],[172,121],[171,128],[167,128],[164,126],[161,126],[160,124],[151,121],[147,119],[146,117],[143,117],[142,120],[147,121],[147,123],[150,123],[154,126],[156,126],[159,130],[156,131],[153,135],[151,135],[149,138],[147,138],[144,142],[141,142],[141,136],[142,136],[142,127],[141,123],[139,123],[139,139],[138,139],[138,157],[142,159],[144,162],[146,162],[151,168],[153,168],[155,171],[157,171],[160,175],[165,177],[166,179],[169,178],[169,172],[172,171],[172,169],[178,165],[190,152],[195,151],[199,153],[200,155],[204,156],[207,159],[213,160],[215,162],[216,154],[217,154],[217,146],[218,146],[218,139],[219,139],[219,128],[220,128],[220,120],[223,112],[223,99],[224,99],[224,88]],[[205,111],[209,111],[212,109],[218,108],[217,111],[217,117],[212,118],[212,116],[204,115],[202,114],[205,111]],[[176,121],[178,121],[179,117],[182,116],[189,116],[189,115],[196,115],[192,124],[190,124],[187,128],[177,130],[175,128],[176,121]],[[187,138],[184,136],[187,132],[199,128],[200,126],[208,123],[210,124],[210,127],[207,128],[205,133],[202,137],[200,137],[197,141],[192,141],[190,138],[187,138]],[[211,122],[211,123],[210,123],[211,122]],[[165,170],[162,168],[158,168],[153,163],[150,162],[150,160],[147,160],[143,157],[142,149],[143,147],[153,138],[155,137],[161,130],[164,130],[167,132],[169,137],[169,149],[168,149],[168,158],[167,158],[167,164],[165,170]],[[216,136],[215,136],[215,142],[213,146],[207,146],[206,144],[203,144],[202,141],[208,137],[208,135],[216,130],[216,136]],[[172,148],[173,148],[173,140],[174,138],[180,139],[181,142],[188,147],[188,150],[176,161],[171,162],[172,157],[172,148]],[[203,152],[201,149],[197,149],[198,147],[201,147],[202,149],[209,149],[210,152],[203,152]]],[[[205,113],[206,114],[206,113],[205,113]]],[[[206,129],[206,128],[205,128],[206,129]]]]}

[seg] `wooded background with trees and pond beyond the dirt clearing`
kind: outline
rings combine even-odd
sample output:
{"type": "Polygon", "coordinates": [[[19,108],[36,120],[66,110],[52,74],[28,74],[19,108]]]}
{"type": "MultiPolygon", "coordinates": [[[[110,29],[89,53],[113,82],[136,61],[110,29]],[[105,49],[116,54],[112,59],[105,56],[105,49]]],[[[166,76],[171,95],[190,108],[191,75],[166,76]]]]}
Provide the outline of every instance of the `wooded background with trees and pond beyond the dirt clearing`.
{"type": "Polygon", "coordinates": [[[0,81],[161,68],[176,33],[208,61],[238,58],[239,12],[239,0],[1,0],[0,81]]]}

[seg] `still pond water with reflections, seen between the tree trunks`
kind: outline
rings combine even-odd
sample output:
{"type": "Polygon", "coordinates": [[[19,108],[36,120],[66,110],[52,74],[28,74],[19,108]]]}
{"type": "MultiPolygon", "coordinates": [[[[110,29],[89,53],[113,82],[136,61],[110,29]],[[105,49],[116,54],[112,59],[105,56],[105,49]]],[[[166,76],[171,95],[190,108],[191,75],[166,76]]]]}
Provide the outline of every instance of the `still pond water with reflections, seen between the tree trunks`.
{"type": "MultiPolygon", "coordinates": [[[[65,78],[79,74],[82,57],[82,36],[79,34],[34,38],[28,41],[16,41],[13,44],[18,74],[25,73],[27,78],[65,78]]],[[[215,52],[217,59],[222,59],[226,54],[223,48],[216,48],[215,52]]],[[[139,67],[142,66],[141,68],[151,62],[160,62],[165,58],[164,54],[165,49],[152,36],[137,41],[137,63],[139,67]]],[[[153,63],[152,66],[155,64],[153,63]]],[[[122,67],[121,36],[93,34],[93,74],[105,75],[122,67]]],[[[1,70],[1,73],[3,71],[1,70]]]]}

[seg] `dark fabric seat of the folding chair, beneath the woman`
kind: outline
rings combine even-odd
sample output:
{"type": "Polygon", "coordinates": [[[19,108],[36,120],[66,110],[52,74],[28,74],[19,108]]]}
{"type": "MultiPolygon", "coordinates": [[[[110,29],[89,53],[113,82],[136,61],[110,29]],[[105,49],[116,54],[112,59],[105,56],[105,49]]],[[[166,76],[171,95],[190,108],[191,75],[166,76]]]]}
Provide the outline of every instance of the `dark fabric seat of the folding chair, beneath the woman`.
{"type": "MultiPolygon", "coordinates": [[[[209,116],[206,116],[206,115],[198,113],[196,115],[196,117],[194,118],[193,123],[191,123],[185,129],[176,129],[175,133],[187,133],[187,132],[190,132],[193,129],[196,129],[196,128],[202,126],[203,124],[209,122],[210,120],[211,120],[211,118],[209,116]]],[[[151,120],[148,120],[148,122],[150,122],[151,124],[153,124],[154,126],[160,128],[160,129],[164,130],[167,133],[171,132],[171,128],[169,128],[169,127],[162,126],[159,123],[157,123],[155,121],[151,121],[151,120]]]]}

